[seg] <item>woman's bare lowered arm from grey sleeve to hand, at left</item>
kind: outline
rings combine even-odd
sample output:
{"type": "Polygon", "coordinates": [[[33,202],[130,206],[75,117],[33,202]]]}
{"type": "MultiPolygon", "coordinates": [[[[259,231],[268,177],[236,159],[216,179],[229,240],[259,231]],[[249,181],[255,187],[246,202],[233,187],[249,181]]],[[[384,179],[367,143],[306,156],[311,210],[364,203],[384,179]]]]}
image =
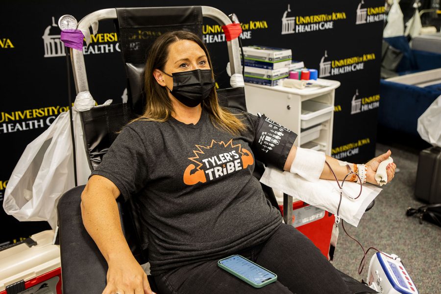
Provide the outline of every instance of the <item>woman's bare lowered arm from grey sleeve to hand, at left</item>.
{"type": "Polygon", "coordinates": [[[100,175],[93,175],[81,194],[84,227],[109,266],[102,294],[153,294],[124,238],[116,202],[120,195],[118,187],[100,175]]]}

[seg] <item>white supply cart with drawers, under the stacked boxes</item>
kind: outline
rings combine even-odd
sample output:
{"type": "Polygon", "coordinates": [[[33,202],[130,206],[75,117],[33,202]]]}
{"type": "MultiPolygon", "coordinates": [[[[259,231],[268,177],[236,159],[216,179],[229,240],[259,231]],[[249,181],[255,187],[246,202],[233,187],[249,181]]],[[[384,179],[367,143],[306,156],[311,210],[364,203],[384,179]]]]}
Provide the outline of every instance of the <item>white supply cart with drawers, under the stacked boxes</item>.
{"type": "Polygon", "coordinates": [[[323,86],[305,89],[245,83],[248,112],[265,114],[298,135],[295,146],[331,155],[335,89],[340,82],[318,79],[323,86]]]}

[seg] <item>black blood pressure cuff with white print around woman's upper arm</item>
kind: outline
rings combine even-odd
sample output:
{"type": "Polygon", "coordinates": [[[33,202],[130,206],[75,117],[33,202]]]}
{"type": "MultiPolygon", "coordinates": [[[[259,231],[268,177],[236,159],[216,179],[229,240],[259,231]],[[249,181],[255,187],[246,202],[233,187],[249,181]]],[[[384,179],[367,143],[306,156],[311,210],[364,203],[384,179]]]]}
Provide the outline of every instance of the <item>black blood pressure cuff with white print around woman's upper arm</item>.
{"type": "Polygon", "coordinates": [[[283,171],[295,138],[296,133],[259,114],[252,144],[254,156],[265,165],[283,171]]]}

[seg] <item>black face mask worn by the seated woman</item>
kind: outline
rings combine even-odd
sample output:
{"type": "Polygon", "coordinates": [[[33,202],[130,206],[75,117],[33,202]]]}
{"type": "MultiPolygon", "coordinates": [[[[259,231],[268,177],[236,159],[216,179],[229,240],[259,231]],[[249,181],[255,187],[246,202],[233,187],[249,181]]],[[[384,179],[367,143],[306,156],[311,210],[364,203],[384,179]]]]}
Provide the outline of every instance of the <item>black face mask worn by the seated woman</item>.
{"type": "Polygon", "coordinates": [[[210,95],[211,90],[215,86],[211,70],[194,70],[172,73],[172,75],[165,74],[173,78],[173,90],[167,89],[179,102],[188,107],[199,105],[210,95]]]}

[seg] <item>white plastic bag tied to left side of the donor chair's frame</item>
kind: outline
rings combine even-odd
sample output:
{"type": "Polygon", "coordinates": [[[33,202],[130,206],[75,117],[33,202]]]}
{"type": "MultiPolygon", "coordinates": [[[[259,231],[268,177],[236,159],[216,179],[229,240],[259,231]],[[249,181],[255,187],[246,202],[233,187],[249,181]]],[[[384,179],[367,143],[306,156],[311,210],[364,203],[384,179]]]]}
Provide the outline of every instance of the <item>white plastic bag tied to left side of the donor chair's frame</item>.
{"type": "MultiPolygon", "coordinates": [[[[78,185],[85,184],[91,173],[78,111],[94,106],[89,92],[81,92],[75,98],[72,114],[78,185]]],[[[6,186],[3,209],[17,220],[48,221],[55,228],[58,199],[74,187],[69,121],[69,112],[61,113],[46,131],[27,145],[14,168],[6,186]]]]}

